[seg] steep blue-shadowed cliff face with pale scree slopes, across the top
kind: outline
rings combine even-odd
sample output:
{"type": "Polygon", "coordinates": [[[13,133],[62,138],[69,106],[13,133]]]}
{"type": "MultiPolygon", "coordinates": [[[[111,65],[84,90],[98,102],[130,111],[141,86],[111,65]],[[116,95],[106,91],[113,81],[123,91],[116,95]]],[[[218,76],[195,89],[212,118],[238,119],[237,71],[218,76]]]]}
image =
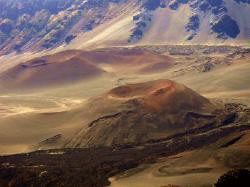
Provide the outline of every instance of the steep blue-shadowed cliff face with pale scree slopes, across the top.
{"type": "Polygon", "coordinates": [[[248,0],[0,0],[1,54],[68,45],[249,43],[248,0]]]}

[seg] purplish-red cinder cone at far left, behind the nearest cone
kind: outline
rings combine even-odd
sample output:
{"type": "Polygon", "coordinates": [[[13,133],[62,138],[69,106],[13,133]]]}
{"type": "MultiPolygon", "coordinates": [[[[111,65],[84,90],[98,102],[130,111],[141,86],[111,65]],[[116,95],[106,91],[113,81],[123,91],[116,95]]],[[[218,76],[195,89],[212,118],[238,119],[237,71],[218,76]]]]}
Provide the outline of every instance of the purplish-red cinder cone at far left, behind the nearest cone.
{"type": "Polygon", "coordinates": [[[48,57],[7,70],[0,76],[0,82],[7,87],[40,87],[79,81],[102,73],[103,70],[80,58],[52,61],[48,57]]]}

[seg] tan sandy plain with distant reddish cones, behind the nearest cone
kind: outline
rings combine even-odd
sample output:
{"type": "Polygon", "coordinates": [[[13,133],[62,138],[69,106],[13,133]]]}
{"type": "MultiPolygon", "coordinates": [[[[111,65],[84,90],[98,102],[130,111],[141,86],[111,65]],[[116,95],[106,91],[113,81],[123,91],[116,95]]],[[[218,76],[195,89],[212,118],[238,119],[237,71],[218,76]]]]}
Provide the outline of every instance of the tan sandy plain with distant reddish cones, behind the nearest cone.
{"type": "MultiPolygon", "coordinates": [[[[143,46],[2,58],[0,150],[2,154],[33,150],[57,135],[57,141],[45,147],[62,146],[84,126],[120,112],[116,108],[134,108],[133,98],[106,94],[132,83],[171,79],[213,101],[249,105],[249,72],[249,49],[228,46],[143,46]],[[74,63],[72,58],[81,59],[84,66],[76,63],[76,68],[57,71],[60,64],[74,63]],[[85,64],[97,73],[89,76],[85,64]]],[[[144,94],[142,98],[147,97],[144,94]]]]}

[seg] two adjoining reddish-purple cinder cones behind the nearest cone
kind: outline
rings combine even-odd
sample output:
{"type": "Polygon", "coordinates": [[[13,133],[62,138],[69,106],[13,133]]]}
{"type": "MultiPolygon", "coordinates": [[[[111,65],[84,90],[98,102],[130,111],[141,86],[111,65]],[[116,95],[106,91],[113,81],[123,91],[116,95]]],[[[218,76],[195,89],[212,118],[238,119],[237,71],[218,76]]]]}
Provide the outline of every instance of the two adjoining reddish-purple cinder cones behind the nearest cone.
{"type": "Polygon", "coordinates": [[[141,49],[68,50],[18,64],[0,74],[0,84],[6,88],[33,88],[85,80],[104,73],[102,63],[122,69],[139,67],[139,73],[152,73],[170,67],[172,59],[141,49]]]}

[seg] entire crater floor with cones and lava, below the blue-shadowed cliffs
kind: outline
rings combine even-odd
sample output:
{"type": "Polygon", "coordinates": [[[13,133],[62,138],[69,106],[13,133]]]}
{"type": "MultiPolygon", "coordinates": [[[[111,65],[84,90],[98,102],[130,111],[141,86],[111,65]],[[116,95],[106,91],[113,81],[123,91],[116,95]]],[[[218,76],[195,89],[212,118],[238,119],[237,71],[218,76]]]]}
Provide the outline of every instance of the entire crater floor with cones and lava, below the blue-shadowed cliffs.
{"type": "Polygon", "coordinates": [[[200,45],[2,57],[0,151],[19,154],[0,157],[0,184],[198,187],[249,168],[249,59],[200,45]]]}

